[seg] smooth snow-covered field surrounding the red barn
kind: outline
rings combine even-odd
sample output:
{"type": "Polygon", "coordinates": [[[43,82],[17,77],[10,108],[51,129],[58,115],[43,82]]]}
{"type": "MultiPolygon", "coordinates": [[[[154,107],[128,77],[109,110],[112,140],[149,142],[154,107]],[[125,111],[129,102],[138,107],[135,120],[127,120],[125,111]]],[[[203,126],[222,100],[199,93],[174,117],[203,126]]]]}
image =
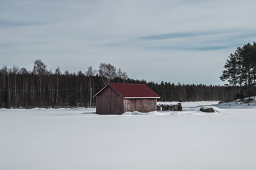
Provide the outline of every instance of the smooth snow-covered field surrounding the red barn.
{"type": "Polygon", "coordinates": [[[256,106],[217,103],[124,115],[0,109],[0,169],[255,169],[256,106]]]}

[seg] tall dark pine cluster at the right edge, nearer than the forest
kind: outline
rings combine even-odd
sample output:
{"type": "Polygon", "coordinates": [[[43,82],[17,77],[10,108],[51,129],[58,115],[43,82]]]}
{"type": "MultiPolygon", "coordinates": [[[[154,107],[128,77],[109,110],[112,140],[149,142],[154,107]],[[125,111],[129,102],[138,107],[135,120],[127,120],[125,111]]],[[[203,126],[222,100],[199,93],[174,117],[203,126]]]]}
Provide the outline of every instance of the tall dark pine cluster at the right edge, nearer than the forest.
{"type": "Polygon", "coordinates": [[[222,81],[235,90],[235,98],[255,96],[256,43],[247,43],[230,54],[224,65],[222,81]]]}

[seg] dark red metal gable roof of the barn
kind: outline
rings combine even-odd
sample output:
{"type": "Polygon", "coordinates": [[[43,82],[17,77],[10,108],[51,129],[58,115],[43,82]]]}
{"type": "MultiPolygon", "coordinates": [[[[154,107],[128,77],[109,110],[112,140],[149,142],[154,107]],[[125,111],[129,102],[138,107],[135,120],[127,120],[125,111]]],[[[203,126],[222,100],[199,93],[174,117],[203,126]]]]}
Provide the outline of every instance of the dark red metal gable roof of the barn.
{"type": "MultiPolygon", "coordinates": [[[[107,86],[117,91],[124,98],[160,98],[158,94],[152,91],[145,84],[107,84],[97,94],[100,94],[107,86]]],[[[95,96],[97,96],[95,94],[95,96]]],[[[94,96],[94,97],[95,97],[94,96]]]]}

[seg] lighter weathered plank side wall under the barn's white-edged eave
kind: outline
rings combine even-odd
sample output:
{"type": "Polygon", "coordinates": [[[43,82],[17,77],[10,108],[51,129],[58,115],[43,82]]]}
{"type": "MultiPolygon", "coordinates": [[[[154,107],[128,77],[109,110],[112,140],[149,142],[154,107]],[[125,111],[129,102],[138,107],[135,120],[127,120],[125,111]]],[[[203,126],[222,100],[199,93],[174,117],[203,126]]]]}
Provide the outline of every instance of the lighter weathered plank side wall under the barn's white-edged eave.
{"type": "Polygon", "coordinates": [[[156,98],[124,99],[124,112],[149,112],[156,111],[156,98]]]}

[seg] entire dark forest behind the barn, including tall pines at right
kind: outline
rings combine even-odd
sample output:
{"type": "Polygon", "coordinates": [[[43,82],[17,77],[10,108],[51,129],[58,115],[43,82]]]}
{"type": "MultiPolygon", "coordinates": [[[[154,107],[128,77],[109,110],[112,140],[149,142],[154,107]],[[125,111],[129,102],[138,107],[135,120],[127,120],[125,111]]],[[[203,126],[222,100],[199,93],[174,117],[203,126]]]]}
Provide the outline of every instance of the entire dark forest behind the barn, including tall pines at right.
{"type": "Polygon", "coordinates": [[[85,72],[53,72],[41,60],[33,70],[17,66],[0,69],[0,108],[73,108],[94,107],[97,91],[107,83],[146,84],[161,98],[159,101],[232,101],[255,96],[256,43],[247,43],[230,54],[224,65],[222,81],[225,86],[205,84],[156,83],[131,79],[122,69],[100,63],[99,68],[88,67],[85,72]]]}

